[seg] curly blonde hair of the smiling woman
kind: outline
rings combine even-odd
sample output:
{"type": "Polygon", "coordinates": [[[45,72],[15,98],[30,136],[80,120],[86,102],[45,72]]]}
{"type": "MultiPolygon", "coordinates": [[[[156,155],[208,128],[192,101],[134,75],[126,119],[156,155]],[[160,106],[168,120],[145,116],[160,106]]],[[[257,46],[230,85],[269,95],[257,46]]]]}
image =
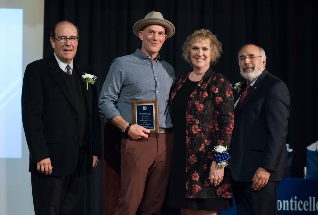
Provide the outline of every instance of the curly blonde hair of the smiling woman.
{"type": "Polygon", "coordinates": [[[208,29],[199,29],[193,32],[193,34],[189,35],[187,39],[183,42],[182,45],[182,56],[184,60],[190,65],[190,47],[193,43],[201,42],[202,40],[208,39],[210,40],[210,48],[211,48],[211,61],[210,65],[215,64],[221,56],[222,53],[222,43],[218,41],[217,36],[212,34],[212,32],[208,29]]]}

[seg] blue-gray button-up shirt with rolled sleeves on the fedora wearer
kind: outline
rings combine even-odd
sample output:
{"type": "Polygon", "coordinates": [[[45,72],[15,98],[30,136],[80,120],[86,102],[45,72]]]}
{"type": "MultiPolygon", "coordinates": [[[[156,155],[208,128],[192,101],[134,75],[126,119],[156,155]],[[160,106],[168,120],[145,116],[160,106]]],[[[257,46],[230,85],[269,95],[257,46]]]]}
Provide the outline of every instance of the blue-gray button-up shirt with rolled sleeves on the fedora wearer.
{"type": "Polygon", "coordinates": [[[108,71],[99,98],[100,114],[109,120],[121,116],[131,122],[131,101],[158,99],[159,127],[172,127],[168,113],[170,89],[175,81],[173,67],[137,49],[116,58],[108,71]]]}

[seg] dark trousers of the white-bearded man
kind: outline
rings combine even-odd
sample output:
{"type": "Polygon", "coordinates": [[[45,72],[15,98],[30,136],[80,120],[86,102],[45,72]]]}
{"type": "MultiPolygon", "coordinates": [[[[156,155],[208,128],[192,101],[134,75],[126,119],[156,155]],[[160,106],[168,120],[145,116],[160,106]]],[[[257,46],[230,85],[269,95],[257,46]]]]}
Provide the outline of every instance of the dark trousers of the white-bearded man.
{"type": "Polygon", "coordinates": [[[239,215],[277,215],[277,188],[279,181],[269,181],[260,190],[253,182],[239,182],[232,178],[233,196],[239,215]]]}

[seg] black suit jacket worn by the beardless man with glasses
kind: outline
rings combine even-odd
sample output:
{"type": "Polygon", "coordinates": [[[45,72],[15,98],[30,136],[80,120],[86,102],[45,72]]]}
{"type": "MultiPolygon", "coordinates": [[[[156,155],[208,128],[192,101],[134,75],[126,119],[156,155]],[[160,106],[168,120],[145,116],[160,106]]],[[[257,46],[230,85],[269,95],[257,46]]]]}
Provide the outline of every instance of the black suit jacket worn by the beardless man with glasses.
{"type": "MultiPolygon", "coordinates": [[[[92,71],[73,60],[80,76],[92,71]]],[[[36,161],[50,158],[52,175],[74,172],[79,156],[77,110],[70,89],[54,55],[27,65],[22,88],[22,121],[30,151],[29,171],[38,173],[36,161]]],[[[94,84],[81,80],[83,100],[89,119],[87,172],[92,172],[93,155],[101,156],[100,117],[97,109],[97,92],[94,84]]]]}

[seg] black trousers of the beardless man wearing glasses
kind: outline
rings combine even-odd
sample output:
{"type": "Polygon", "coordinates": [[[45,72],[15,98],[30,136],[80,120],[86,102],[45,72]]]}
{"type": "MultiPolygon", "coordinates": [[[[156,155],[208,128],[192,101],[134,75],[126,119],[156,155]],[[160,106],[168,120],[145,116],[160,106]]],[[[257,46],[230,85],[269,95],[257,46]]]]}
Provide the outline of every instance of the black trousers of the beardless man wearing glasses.
{"type": "Polygon", "coordinates": [[[71,175],[31,173],[35,215],[84,214],[86,162],[87,153],[79,153],[77,167],[71,175]]]}

